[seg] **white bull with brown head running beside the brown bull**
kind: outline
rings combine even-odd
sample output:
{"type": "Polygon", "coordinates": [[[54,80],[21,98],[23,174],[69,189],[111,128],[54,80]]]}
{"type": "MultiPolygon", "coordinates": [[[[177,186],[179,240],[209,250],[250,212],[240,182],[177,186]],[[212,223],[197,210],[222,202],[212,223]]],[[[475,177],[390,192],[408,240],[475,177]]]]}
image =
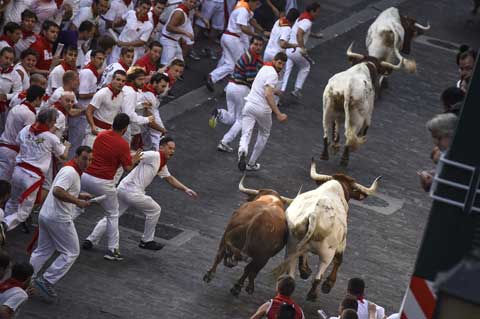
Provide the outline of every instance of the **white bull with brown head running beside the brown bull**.
{"type": "Polygon", "coordinates": [[[343,174],[318,174],[313,159],[310,177],[320,186],[297,196],[288,207],[287,255],[274,273],[279,275],[288,272],[294,276],[298,259],[300,276],[307,279],[312,273],[307,263],[307,254],[311,252],[317,255],[318,272],[307,295],[308,300],[315,300],[317,287],[332,261],[333,269],[322,284],[322,292],[329,293],[337,280],[347,244],[348,201],[350,198],[362,200],[375,193],[381,177],[377,177],[367,188],[343,174]]]}

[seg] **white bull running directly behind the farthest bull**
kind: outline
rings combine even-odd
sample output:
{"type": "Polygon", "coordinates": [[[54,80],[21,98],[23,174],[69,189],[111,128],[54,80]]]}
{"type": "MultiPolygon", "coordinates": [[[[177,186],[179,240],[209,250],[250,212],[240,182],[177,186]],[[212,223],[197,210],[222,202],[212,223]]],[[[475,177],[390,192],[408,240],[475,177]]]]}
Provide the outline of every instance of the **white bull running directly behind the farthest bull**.
{"type": "Polygon", "coordinates": [[[323,92],[323,152],[320,158],[329,159],[330,131],[332,151],[336,153],[340,149],[339,128],[343,121],[346,142],[340,161],[342,166],[348,165],[350,151],[366,142],[380,76],[387,76],[402,68],[401,61],[393,65],[375,57],[354,53],[352,46],[353,43],[347,49],[347,56],[354,65],[330,78],[323,92]]]}

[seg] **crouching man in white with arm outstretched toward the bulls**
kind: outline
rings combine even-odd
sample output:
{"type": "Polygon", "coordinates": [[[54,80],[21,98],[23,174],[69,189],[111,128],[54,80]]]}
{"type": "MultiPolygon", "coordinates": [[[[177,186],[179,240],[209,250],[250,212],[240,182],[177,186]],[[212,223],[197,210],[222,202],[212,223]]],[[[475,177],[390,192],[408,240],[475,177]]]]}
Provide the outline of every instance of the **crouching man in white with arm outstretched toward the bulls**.
{"type": "MultiPolygon", "coordinates": [[[[145,194],[145,189],[153,182],[155,176],[160,176],[172,187],[185,192],[190,197],[198,197],[195,191],[170,175],[167,162],[173,154],[175,154],[175,142],[171,137],[165,136],[160,141],[160,151],[143,152],[140,163],[120,182],[117,188],[120,216],[130,207],[145,214],[145,229],[138,245],[140,248],[160,250],[164,246],[154,241],[155,227],[161,212],[160,205],[145,194]]],[[[100,220],[85,240],[84,247],[91,248],[98,244],[105,233],[106,225],[106,218],[100,220]]]]}

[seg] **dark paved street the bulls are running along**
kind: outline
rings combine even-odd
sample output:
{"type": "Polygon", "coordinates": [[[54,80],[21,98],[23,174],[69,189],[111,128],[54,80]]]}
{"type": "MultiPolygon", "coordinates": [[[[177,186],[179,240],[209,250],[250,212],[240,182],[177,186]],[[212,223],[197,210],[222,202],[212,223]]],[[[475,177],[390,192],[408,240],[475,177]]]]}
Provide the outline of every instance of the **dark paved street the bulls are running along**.
{"type": "MultiPolygon", "coordinates": [[[[369,5],[385,1],[324,1],[324,16],[316,28],[332,26],[355,14],[370,10],[369,5]]],[[[428,36],[454,43],[479,46],[480,23],[464,29],[468,8],[449,1],[395,1],[419,21],[429,20],[428,36]],[[448,13],[448,15],[446,14],[448,13]]],[[[368,12],[370,12],[368,11],[368,12]]],[[[358,15],[362,16],[361,14],[358,15]]],[[[288,98],[283,110],[286,124],[274,122],[272,134],[261,158],[262,170],[248,174],[246,184],[254,188],[270,187],[293,196],[300,185],[313,189],[308,170],[311,156],[321,151],[323,88],[330,76],[348,67],[345,50],[356,41],[362,51],[370,18],[350,19],[346,33],[315,47],[311,56],[317,61],[300,101],[288,98]]],[[[347,173],[363,184],[378,175],[384,178],[379,197],[369,198],[363,206],[352,205],[349,215],[348,247],[336,286],[317,302],[307,302],[309,281],[298,280],[294,298],[304,307],[307,318],[316,318],[317,309],[334,314],[345,294],[350,277],[367,281],[369,299],[384,305],[388,313],[398,310],[430,207],[430,199],[418,187],[415,171],[429,168],[431,141],[424,123],[440,111],[439,94],[456,81],[454,52],[427,38],[414,43],[412,55],[418,63],[415,75],[394,74],[390,88],[376,104],[368,142],[351,156],[347,173]],[[383,207],[383,208],[382,208],[383,207]]],[[[438,42],[437,42],[438,43],[438,42]]],[[[178,95],[197,89],[189,79],[199,79],[208,63],[194,65],[178,95]]],[[[229,289],[241,275],[241,269],[220,267],[210,284],[201,278],[210,266],[224,225],[232,211],[244,200],[237,190],[241,177],[236,158],[218,153],[216,144],[225,127],[207,126],[213,106],[224,104],[221,96],[206,100],[203,88],[197,99],[178,99],[178,107],[199,106],[168,120],[167,127],[177,141],[177,154],[169,163],[170,171],[196,189],[200,199],[192,201],[155,181],[148,193],[162,205],[159,240],[167,244],[157,253],[136,247],[142,220],[131,211],[122,221],[121,248],[126,259],[111,263],[103,260],[103,250],[81,253],[70,273],[58,284],[57,304],[29,301],[21,318],[246,318],[258,305],[272,297],[274,284],[269,271],[281,260],[277,256],[259,274],[253,295],[242,292],[239,298],[229,289]],[[136,230],[137,229],[137,230],[136,230]]],[[[166,106],[168,107],[168,106],[166,106]]],[[[236,144],[234,144],[236,145],[236,144]]],[[[318,164],[326,174],[339,171],[339,158],[318,164]]],[[[98,210],[89,210],[77,220],[81,239],[99,218],[98,210]]],[[[28,237],[14,232],[10,250],[17,259],[28,237]]],[[[103,247],[103,246],[102,246],[103,247]]],[[[316,261],[311,258],[311,264],[316,261]]]]}

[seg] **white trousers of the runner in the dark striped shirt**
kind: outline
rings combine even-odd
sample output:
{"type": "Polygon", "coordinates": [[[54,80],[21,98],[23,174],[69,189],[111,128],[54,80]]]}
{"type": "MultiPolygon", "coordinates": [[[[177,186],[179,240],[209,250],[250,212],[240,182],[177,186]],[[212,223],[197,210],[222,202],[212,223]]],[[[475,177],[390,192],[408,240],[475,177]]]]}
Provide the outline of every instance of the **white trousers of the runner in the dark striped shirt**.
{"type": "Polygon", "coordinates": [[[222,138],[222,143],[232,142],[242,131],[242,111],[245,97],[250,92],[246,85],[229,82],[225,88],[227,94],[227,110],[220,110],[219,120],[223,124],[232,125],[222,138]]]}

